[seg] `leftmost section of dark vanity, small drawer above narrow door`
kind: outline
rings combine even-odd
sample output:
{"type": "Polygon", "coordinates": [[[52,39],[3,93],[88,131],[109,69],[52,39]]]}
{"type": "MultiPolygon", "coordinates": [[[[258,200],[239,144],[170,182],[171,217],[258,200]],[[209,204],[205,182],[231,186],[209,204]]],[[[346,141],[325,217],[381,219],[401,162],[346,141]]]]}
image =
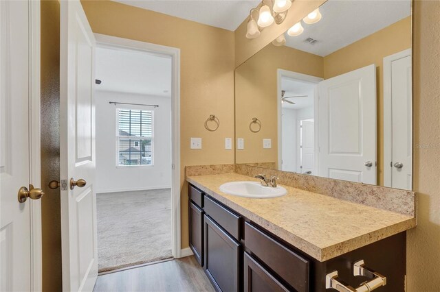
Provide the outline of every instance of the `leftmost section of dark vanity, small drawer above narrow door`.
{"type": "Polygon", "coordinates": [[[188,189],[190,201],[188,210],[190,249],[203,267],[203,193],[194,186],[188,189]]]}

